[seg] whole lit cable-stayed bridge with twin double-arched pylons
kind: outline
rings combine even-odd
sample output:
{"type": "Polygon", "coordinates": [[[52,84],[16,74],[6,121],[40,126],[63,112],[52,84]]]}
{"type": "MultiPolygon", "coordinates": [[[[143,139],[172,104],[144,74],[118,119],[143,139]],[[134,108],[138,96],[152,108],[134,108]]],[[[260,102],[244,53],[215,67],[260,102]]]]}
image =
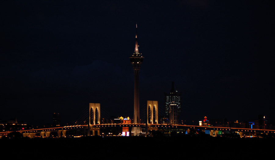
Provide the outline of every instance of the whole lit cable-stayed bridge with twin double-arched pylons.
{"type": "MultiPolygon", "coordinates": [[[[51,127],[41,129],[18,130],[24,137],[67,137],[67,136],[121,136],[123,132],[131,135],[133,128],[140,128],[139,136],[152,136],[152,131],[159,131],[169,136],[171,132],[179,134],[200,134],[202,132],[211,136],[221,136],[223,134],[238,134],[240,137],[261,136],[267,134],[275,134],[275,130],[271,129],[252,129],[252,128],[230,128],[220,126],[198,126],[198,125],[179,125],[179,124],[160,124],[158,118],[157,101],[147,101],[147,114],[141,115],[145,117],[145,123],[133,123],[129,119],[117,119],[111,123],[106,123],[101,119],[100,103],[90,103],[89,112],[82,112],[82,116],[78,120],[64,127],[51,127]]],[[[0,132],[0,137],[8,136],[12,132],[0,132]]],[[[127,135],[127,134],[125,134],[127,135]]]]}

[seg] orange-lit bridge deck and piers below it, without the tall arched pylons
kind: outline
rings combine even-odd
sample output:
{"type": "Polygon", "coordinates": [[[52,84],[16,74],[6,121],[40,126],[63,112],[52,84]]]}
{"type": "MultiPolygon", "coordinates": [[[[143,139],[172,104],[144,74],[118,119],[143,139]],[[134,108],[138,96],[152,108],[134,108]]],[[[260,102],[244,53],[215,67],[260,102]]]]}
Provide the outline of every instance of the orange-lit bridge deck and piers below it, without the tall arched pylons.
{"type": "MultiPolygon", "coordinates": [[[[167,125],[167,124],[97,124],[90,125],[90,131],[122,131],[122,128],[133,128],[133,127],[141,127],[145,132],[144,136],[150,136],[150,131],[160,131],[160,132],[181,132],[182,134],[195,133],[208,131],[211,136],[217,136],[222,134],[230,134],[237,133],[240,137],[252,137],[261,134],[275,134],[275,130],[270,129],[249,129],[249,128],[229,128],[229,127],[215,127],[215,126],[197,126],[197,125],[167,125]],[[147,132],[147,133],[146,133],[147,132]]],[[[64,127],[54,127],[54,128],[41,128],[41,129],[30,129],[30,130],[21,130],[16,131],[23,134],[24,137],[67,137],[74,136],[68,135],[67,132],[80,132],[81,135],[75,136],[87,136],[88,125],[75,125],[75,126],[64,126],[64,127]],[[55,135],[55,136],[53,136],[55,135]]],[[[7,136],[11,132],[0,132],[0,137],[7,136]]],[[[97,132],[97,135],[100,136],[111,136],[108,134],[110,132],[101,133],[97,132]]],[[[114,136],[114,135],[112,135],[114,136]]],[[[119,136],[119,135],[115,135],[119,136]]]]}

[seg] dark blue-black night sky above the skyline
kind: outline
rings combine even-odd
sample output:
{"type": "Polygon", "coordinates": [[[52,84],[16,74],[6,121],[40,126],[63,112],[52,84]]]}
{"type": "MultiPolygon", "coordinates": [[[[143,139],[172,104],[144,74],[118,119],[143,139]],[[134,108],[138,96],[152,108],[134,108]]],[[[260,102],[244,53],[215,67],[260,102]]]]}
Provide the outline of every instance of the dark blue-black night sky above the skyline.
{"type": "Polygon", "coordinates": [[[274,119],[274,15],[271,1],[1,1],[0,119],[70,124],[89,103],[133,117],[136,23],[141,114],[156,100],[163,115],[174,81],[180,120],[274,119]]]}

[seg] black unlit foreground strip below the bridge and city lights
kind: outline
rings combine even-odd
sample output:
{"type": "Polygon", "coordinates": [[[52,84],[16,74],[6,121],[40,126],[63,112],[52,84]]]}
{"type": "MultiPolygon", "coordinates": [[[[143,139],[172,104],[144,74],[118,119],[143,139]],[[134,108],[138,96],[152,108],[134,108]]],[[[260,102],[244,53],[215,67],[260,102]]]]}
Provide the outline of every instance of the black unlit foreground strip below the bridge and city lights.
{"type": "Polygon", "coordinates": [[[255,159],[272,155],[274,142],[275,139],[270,137],[226,138],[208,135],[0,139],[2,156],[7,155],[9,159],[255,159]]]}

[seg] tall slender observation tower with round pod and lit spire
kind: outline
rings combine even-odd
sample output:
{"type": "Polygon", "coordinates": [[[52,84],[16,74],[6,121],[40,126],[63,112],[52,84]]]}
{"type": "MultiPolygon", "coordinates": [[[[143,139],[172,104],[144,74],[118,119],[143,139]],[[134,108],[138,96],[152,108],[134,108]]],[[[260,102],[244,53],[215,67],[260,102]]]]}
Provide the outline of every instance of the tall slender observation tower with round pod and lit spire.
{"type": "MultiPolygon", "coordinates": [[[[143,61],[143,56],[141,53],[138,52],[138,25],[136,25],[136,45],[135,45],[135,52],[130,56],[130,62],[133,66],[134,69],[134,121],[133,123],[140,123],[139,119],[139,82],[138,82],[138,77],[139,77],[139,69],[141,66],[141,63],[143,61]]],[[[134,127],[133,127],[134,128],[134,127]]],[[[140,134],[141,130],[137,129],[134,131],[135,134],[140,134]]],[[[134,129],[134,130],[135,130],[134,129]]],[[[132,129],[133,132],[133,129],[132,129]]]]}

